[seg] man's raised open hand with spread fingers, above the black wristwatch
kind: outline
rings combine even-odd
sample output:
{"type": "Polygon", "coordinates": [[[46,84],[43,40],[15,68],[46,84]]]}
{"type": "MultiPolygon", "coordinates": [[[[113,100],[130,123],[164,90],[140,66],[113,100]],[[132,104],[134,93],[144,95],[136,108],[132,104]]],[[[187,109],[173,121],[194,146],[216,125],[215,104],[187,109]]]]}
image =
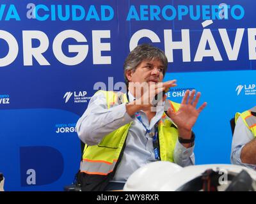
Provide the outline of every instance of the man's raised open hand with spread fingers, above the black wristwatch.
{"type": "Polygon", "coordinates": [[[191,129],[195,125],[198,115],[207,105],[207,103],[204,102],[198,109],[196,109],[201,93],[197,92],[195,101],[193,101],[195,93],[196,91],[193,90],[189,96],[189,91],[187,90],[185,92],[177,112],[174,113],[172,108],[168,108],[168,117],[170,117],[170,119],[177,125],[180,138],[191,138],[191,129]]]}

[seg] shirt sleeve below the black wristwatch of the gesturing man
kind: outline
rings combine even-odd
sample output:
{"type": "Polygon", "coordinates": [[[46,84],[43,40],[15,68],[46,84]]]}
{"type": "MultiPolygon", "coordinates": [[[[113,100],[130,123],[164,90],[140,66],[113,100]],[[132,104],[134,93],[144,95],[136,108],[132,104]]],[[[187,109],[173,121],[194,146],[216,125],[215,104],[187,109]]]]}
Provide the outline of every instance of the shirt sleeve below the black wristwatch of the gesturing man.
{"type": "Polygon", "coordinates": [[[195,165],[194,148],[195,145],[186,148],[179,142],[179,140],[177,140],[173,154],[174,163],[179,164],[182,167],[195,165]]]}

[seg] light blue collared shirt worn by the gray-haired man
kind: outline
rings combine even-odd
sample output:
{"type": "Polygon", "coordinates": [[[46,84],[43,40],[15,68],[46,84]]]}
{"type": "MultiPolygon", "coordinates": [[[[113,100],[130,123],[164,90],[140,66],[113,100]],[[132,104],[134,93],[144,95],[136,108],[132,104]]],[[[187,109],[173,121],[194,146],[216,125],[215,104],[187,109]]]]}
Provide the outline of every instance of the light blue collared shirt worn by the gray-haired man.
{"type": "MultiPolygon", "coordinates": [[[[133,101],[134,97],[131,92],[128,92],[128,96],[129,101],[133,101]]],[[[140,111],[141,119],[147,129],[154,132],[154,126],[161,119],[163,111],[163,106],[160,106],[150,123],[147,115],[140,111]]],[[[88,108],[77,122],[76,129],[80,140],[88,145],[97,145],[105,135],[131,121],[133,122],[127,135],[124,155],[118,164],[113,182],[126,182],[138,168],[156,161],[152,138],[140,120],[134,116],[131,117],[126,112],[125,103],[108,109],[106,98],[102,92],[98,92],[92,97],[88,108]]],[[[193,149],[194,146],[187,149],[177,141],[173,154],[174,162],[180,166],[195,164],[193,149]]]]}

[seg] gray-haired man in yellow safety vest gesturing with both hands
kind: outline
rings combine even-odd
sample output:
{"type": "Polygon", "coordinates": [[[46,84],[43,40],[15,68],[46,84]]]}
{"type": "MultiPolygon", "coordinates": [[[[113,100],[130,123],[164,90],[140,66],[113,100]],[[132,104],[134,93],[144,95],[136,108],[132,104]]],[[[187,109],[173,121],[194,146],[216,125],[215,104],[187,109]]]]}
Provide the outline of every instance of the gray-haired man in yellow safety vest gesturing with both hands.
{"type": "Polygon", "coordinates": [[[154,161],[195,164],[191,129],[206,103],[196,109],[195,90],[190,96],[186,91],[181,104],[166,100],[163,93],[176,86],[176,80],[162,82],[167,66],[162,50],[138,45],[124,63],[127,94],[94,94],[76,126],[85,143],[78,175],[82,191],[123,189],[134,171],[154,161]]]}

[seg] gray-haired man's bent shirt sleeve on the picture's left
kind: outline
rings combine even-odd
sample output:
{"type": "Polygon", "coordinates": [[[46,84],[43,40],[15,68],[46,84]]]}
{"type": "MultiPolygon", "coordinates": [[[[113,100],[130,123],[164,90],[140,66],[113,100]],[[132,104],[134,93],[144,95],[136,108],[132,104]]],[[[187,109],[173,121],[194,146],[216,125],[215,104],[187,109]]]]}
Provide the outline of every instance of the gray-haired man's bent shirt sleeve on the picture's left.
{"type": "Polygon", "coordinates": [[[90,99],[88,108],[77,121],[76,131],[81,141],[97,145],[104,136],[132,120],[125,103],[108,109],[104,94],[99,92],[90,99]]]}

